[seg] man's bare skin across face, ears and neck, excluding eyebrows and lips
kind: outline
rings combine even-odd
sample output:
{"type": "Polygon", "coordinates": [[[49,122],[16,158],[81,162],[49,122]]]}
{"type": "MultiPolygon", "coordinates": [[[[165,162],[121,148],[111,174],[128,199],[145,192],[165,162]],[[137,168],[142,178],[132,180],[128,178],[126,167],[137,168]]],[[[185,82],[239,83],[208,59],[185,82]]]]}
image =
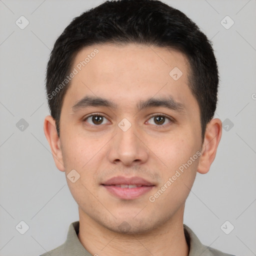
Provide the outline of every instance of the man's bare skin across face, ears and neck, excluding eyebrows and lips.
{"type": "Polygon", "coordinates": [[[208,172],[215,157],[221,121],[214,118],[207,124],[202,143],[199,106],[188,87],[189,66],[181,52],[138,44],[93,45],[77,53],[73,67],[95,48],[98,54],[72,78],[64,96],[60,137],[54,119],[48,115],[44,120],[56,167],[65,175],[71,169],[80,175],[74,183],[66,179],[78,204],[78,238],[92,255],[188,255],[185,200],[196,172],[208,172]],[[183,73],[177,80],[169,75],[174,67],[183,73]],[[72,106],[85,95],[112,100],[117,107],[90,106],[73,112],[72,106]],[[136,108],[139,100],[167,95],[183,104],[183,111],[136,108]],[[102,124],[85,119],[93,113],[105,117],[102,124]],[[152,114],[170,119],[162,124],[152,114]],[[126,131],[118,126],[123,118],[131,123],[126,131]],[[200,157],[154,202],[149,201],[196,151],[200,157]],[[155,186],[136,199],[120,199],[100,185],[117,175],[139,176],[155,186]],[[129,226],[126,232],[120,228],[123,221],[129,226]]]}

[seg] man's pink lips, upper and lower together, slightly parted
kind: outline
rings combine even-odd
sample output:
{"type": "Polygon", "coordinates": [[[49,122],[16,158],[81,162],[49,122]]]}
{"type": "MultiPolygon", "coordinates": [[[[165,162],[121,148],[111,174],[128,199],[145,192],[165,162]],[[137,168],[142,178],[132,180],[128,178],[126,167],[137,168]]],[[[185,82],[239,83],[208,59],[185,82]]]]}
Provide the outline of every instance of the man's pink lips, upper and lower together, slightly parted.
{"type": "Polygon", "coordinates": [[[105,189],[112,195],[126,200],[138,198],[150,191],[155,186],[151,182],[137,176],[129,178],[123,176],[116,176],[108,179],[101,185],[105,187],[105,189]],[[115,186],[120,184],[139,185],[139,187],[127,188],[115,186]]]}

